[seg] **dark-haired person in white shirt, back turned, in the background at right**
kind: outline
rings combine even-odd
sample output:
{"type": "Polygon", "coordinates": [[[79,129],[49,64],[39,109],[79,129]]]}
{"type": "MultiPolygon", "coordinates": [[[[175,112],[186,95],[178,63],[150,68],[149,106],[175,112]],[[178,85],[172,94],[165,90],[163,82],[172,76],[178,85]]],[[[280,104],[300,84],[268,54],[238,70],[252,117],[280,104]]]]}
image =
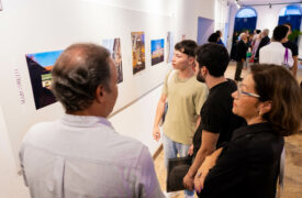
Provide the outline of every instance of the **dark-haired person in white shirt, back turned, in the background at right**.
{"type": "Polygon", "coordinates": [[[289,28],[284,25],[278,25],[275,28],[271,43],[260,50],[260,64],[276,64],[282,65],[287,68],[292,68],[293,59],[291,51],[282,45],[282,43],[287,41],[288,32],[289,28]]]}

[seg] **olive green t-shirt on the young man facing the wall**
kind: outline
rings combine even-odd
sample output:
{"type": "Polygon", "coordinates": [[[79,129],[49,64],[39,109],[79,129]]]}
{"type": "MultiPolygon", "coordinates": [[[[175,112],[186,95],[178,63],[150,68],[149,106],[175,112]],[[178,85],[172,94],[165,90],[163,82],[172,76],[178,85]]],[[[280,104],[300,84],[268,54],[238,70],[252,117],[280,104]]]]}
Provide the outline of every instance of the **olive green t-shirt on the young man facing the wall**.
{"type": "Polygon", "coordinates": [[[169,74],[161,91],[168,100],[164,133],[175,142],[191,144],[197,119],[209,90],[194,75],[188,79],[180,79],[178,70],[169,74]]]}

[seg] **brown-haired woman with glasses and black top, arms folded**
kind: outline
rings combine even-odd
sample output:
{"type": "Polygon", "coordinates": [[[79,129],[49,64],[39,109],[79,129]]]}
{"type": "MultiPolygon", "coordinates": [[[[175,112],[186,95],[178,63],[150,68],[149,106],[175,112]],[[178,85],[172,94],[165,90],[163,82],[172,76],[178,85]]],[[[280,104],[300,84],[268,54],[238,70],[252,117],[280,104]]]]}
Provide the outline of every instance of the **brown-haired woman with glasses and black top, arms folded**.
{"type": "Polygon", "coordinates": [[[248,125],[205,158],[194,187],[202,198],[275,198],[283,136],[301,127],[302,91],[283,67],[259,65],[232,97],[233,112],[248,125]]]}

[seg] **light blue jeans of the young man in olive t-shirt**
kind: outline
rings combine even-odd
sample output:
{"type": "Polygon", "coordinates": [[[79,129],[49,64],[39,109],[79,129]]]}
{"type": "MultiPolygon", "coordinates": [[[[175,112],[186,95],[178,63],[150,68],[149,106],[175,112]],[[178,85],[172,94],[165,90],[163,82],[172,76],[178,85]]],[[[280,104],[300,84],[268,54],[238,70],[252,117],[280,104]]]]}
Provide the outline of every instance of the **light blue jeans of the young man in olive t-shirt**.
{"type": "MultiPolygon", "coordinates": [[[[181,144],[181,143],[175,142],[168,136],[166,136],[165,133],[163,133],[163,144],[164,144],[166,169],[168,168],[168,158],[178,157],[177,154],[179,154],[180,157],[184,157],[188,155],[188,152],[190,148],[190,144],[181,144]]],[[[194,195],[194,191],[184,190],[184,195],[192,196],[194,195]]]]}

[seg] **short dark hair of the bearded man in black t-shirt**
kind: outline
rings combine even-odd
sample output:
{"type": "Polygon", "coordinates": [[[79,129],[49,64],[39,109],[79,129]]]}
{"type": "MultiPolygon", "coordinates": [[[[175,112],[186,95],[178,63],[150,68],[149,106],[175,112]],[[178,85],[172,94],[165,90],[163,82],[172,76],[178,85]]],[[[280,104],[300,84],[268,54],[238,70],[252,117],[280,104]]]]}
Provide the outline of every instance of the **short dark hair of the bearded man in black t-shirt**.
{"type": "Polygon", "coordinates": [[[195,56],[199,67],[205,66],[210,75],[214,77],[223,76],[230,62],[226,48],[215,43],[199,46],[195,56]]]}

